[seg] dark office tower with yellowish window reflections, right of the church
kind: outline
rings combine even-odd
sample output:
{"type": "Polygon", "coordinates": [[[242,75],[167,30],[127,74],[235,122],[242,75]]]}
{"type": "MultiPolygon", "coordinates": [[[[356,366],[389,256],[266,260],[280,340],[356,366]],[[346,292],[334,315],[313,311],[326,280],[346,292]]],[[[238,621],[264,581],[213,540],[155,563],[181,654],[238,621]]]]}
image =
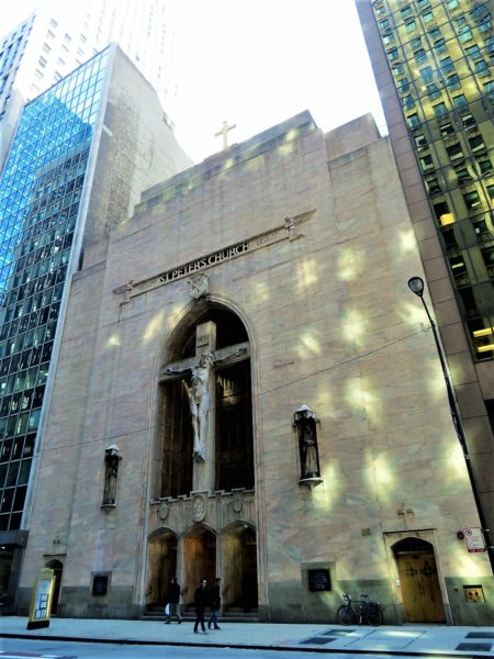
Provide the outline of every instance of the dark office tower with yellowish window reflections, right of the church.
{"type": "Polygon", "coordinates": [[[494,528],[494,3],[357,0],[494,528]]]}

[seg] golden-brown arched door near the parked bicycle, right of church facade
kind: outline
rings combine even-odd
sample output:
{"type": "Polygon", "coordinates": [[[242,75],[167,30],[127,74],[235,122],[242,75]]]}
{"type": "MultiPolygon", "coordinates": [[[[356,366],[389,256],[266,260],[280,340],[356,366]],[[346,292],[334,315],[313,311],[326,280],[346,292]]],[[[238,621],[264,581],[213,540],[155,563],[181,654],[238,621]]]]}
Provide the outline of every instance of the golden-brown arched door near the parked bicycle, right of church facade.
{"type": "Polygon", "coordinates": [[[434,547],[408,537],[392,547],[396,558],[403,607],[407,623],[446,621],[434,547]]]}

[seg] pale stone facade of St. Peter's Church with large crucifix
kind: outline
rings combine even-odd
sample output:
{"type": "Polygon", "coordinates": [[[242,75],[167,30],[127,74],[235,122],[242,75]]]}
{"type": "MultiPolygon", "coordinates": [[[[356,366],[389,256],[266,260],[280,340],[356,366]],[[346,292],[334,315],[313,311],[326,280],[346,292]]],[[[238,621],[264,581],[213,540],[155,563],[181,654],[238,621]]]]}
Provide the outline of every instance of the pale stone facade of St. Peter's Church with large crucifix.
{"type": "Polygon", "coordinates": [[[48,566],[61,616],[141,617],[177,574],[260,621],[335,622],[348,591],[489,624],[415,275],[370,116],[304,112],[145,191],[72,281],[18,611],[48,566]]]}

